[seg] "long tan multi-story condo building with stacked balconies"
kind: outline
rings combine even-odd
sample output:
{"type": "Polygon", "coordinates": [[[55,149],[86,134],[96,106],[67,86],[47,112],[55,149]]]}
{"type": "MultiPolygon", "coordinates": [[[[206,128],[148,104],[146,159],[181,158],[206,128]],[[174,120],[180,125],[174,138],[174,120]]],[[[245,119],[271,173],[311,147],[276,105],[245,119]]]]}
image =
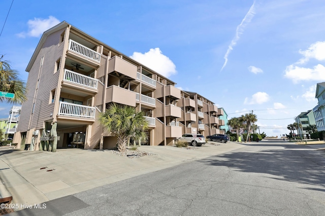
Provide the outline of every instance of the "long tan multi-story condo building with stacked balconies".
{"type": "MultiPolygon", "coordinates": [[[[202,118],[183,115],[191,108],[199,111],[191,94],[67,22],[44,32],[26,71],[28,100],[22,104],[13,141],[20,148],[28,144],[30,149],[38,149],[40,137],[49,135],[60,138],[54,141],[58,148],[113,148],[117,138],[96,120],[111,103],[144,111],[150,128],[147,145],[172,145],[192,121],[200,132],[197,123],[202,118]],[[178,106],[186,99],[194,103],[178,106]]],[[[222,114],[212,102],[205,99],[205,104],[202,112],[216,118],[222,114]]],[[[211,125],[221,125],[219,121],[206,122],[209,132],[211,125]]],[[[214,132],[218,130],[214,128],[214,132]]]]}

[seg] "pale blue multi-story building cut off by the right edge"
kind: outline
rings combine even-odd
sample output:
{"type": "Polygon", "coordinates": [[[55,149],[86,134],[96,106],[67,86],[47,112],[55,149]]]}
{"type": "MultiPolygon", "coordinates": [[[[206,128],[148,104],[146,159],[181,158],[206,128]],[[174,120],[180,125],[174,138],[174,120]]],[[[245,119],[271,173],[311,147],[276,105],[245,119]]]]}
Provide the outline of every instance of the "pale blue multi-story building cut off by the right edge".
{"type": "Polygon", "coordinates": [[[315,98],[318,100],[317,106],[313,108],[317,131],[325,131],[325,82],[317,83],[315,98]]]}

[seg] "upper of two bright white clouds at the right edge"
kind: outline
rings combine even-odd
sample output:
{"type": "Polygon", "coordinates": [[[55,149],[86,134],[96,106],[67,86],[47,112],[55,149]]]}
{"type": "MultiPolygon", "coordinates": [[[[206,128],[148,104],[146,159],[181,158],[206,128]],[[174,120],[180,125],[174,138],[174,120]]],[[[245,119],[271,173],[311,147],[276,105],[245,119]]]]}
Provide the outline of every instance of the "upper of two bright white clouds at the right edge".
{"type": "Polygon", "coordinates": [[[317,59],[318,61],[325,60],[325,41],[317,41],[305,51],[299,51],[304,56],[297,63],[303,64],[309,61],[309,59],[317,59]]]}

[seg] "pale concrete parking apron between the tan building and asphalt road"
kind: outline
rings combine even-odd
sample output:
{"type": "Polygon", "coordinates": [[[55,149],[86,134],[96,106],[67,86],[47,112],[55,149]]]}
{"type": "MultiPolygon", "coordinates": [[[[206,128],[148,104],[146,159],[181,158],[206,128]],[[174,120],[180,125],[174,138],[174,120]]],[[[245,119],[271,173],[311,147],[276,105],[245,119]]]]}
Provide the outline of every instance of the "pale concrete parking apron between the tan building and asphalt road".
{"type": "MultiPolygon", "coordinates": [[[[215,142],[211,142],[215,143],[215,142]]],[[[206,144],[195,150],[141,146],[154,155],[127,158],[107,150],[58,149],[24,151],[2,147],[0,180],[12,194],[11,203],[33,205],[72,195],[182,163],[244,147],[239,143],[206,144]]]]}

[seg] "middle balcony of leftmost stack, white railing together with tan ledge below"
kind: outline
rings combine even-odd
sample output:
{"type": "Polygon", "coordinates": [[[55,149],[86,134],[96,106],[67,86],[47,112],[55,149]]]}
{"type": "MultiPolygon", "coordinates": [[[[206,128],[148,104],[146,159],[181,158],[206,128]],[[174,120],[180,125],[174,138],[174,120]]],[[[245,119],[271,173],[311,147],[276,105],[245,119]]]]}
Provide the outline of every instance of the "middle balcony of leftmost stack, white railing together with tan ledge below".
{"type": "Polygon", "coordinates": [[[68,69],[64,69],[62,85],[77,90],[78,92],[85,92],[85,95],[98,93],[98,79],[68,69]]]}

